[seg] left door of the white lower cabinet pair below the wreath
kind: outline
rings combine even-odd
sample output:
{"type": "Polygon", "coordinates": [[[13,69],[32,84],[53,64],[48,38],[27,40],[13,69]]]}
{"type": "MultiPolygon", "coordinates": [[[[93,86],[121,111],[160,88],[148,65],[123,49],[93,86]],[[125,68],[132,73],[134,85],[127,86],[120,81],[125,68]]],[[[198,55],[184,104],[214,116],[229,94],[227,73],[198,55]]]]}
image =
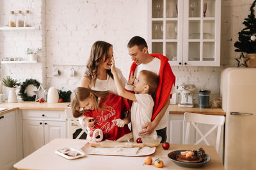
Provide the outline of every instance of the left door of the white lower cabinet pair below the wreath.
{"type": "Polygon", "coordinates": [[[23,155],[28,156],[44,146],[44,121],[23,120],[23,155]]]}

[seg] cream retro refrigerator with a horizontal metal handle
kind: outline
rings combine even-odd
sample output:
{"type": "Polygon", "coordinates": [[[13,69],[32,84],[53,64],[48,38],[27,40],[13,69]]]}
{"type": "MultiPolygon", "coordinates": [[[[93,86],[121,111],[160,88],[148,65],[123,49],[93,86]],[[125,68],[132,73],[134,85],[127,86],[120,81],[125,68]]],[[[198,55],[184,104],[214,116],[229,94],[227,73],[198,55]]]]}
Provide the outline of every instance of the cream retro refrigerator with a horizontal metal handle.
{"type": "Polygon", "coordinates": [[[220,90],[226,111],[225,169],[256,169],[256,68],[224,69],[220,90]]]}

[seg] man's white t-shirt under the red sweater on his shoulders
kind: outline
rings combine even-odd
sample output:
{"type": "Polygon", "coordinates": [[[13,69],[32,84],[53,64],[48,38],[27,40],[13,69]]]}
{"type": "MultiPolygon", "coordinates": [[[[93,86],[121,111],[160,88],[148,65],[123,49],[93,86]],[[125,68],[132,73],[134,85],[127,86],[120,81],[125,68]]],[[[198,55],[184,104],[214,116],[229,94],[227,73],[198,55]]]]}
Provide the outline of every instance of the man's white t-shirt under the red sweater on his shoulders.
{"type": "MultiPolygon", "coordinates": [[[[156,73],[159,75],[159,70],[161,66],[161,60],[155,57],[152,61],[148,62],[147,64],[140,64],[136,67],[134,73],[136,74],[136,77],[138,78],[141,70],[148,70],[156,73]]],[[[172,87],[172,92],[174,90],[174,86],[172,87]]],[[[171,92],[171,94],[172,94],[171,92]]],[[[153,109],[152,109],[153,110],[153,109]]],[[[163,129],[164,127],[167,127],[168,125],[168,119],[169,119],[169,111],[168,109],[165,111],[163,118],[161,118],[159,124],[156,127],[156,130],[163,129]]]]}

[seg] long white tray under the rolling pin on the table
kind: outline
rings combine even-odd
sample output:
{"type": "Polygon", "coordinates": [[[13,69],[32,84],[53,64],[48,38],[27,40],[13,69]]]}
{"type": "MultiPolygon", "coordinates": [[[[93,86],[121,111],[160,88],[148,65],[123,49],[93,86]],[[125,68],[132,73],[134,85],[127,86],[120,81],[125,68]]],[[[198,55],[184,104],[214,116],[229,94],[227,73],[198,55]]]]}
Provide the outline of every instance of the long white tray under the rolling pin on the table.
{"type": "MultiPolygon", "coordinates": [[[[129,150],[129,148],[124,148],[124,149],[129,150]]],[[[130,149],[133,150],[134,148],[130,148],[130,149]]],[[[151,155],[156,151],[156,147],[150,148],[150,147],[144,146],[143,148],[139,148],[138,152],[135,154],[118,152],[120,148],[93,148],[89,145],[84,145],[81,148],[81,150],[83,150],[84,153],[90,154],[90,155],[116,155],[116,156],[137,157],[137,156],[151,155]]]]}

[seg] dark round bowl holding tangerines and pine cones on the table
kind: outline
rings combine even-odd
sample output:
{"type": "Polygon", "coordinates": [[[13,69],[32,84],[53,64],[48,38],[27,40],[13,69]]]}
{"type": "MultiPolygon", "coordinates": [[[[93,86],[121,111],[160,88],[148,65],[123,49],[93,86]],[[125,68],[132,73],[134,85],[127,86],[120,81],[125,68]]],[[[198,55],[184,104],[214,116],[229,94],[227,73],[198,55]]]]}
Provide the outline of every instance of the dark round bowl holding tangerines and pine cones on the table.
{"type": "Polygon", "coordinates": [[[180,154],[180,152],[184,152],[184,151],[186,151],[186,150],[175,150],[173,152],[168,153],[168,157],[172,160],[172,162],[174,162],[178,166],[182,166],[182,167],[201,167],[210,161],[210,157],[207,154],[205,154],[206,159],[203,162],[198,162],[198,163],[180,162],[176,159],[173,159],[173,156],[172,156],[173,154],[178,155],[178,154],[180,154]]]}

